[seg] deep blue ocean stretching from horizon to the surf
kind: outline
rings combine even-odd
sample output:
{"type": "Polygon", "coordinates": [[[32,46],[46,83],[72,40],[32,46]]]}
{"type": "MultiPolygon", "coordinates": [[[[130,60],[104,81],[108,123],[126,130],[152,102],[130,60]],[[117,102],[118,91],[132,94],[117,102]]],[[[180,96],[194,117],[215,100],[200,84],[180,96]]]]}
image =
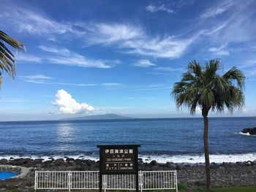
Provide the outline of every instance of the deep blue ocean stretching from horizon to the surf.
{"type": "MultiPolygon", "coordinates": [[[[238,134],[256,118],[210,118],[211,162],[256,160],[256,137],[238,134]]],[[[139,144],[139,156],[165,163],[200,163],[203,119],[136,119],[0,122],[0,158],[99,159],[97,145],[139,144]]]]}

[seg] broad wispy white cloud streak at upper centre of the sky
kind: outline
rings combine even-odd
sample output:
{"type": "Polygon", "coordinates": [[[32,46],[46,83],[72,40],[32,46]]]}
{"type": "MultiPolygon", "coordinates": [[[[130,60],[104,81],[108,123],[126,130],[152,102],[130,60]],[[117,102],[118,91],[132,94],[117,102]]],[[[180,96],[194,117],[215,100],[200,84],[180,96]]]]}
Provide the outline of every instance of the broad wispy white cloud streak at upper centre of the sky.
{"type": "Polygon", "coordinates": [[[86,43],[89,45],[116,45],[115,48],[123,53],[146,55],[154,58],[178,58],[200,36],[198,33],[186,39],[176,36],[152,37],[146,34],[140,26],[119,23],[94,24],[86,30],[91,32],[85,37],[86,43]],[[105,31],[104,28],[108,30],[105,31]],[[123,32],[120,35],[118,31],[123,32]]]}

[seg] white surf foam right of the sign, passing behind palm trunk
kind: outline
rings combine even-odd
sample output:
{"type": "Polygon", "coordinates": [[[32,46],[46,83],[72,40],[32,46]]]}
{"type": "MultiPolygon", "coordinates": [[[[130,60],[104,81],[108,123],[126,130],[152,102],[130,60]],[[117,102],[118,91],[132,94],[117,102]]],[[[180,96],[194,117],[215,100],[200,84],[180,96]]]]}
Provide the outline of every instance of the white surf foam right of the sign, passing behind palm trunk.
{"type": "MultiPolygon", "coordinates": [[[[173,163],[188,163],[188,164],[198,164],[204,163],[204,155],[141,155],[144,162],[157,161],[158,163],[165,164],[166,162],[173,163]]],[[[210,162],[216,164],[225,163],[236,163],[238,161],[255,161],[256,153],[246,153],[246,154],[232,154],[232,155],[210,155],[210,162]]]]}

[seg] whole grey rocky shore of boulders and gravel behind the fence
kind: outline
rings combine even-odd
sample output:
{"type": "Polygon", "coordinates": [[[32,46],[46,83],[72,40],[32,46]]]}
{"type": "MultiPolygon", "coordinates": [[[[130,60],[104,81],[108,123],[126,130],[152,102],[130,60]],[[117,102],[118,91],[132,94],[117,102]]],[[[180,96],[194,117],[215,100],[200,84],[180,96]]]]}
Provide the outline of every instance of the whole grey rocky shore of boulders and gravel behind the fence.
{"type": "MultiPolygon", "coordinates": [[[[87,171],[99,170],[99,161],[74,158],[49,158],[44,161],[42,158],[17,158],[0,159],[0,165],[24,166],[32,168],[23,179],[10,179],[0,181],[0,191],[9,188],[22,188],[29,191],[34,186],[35,170],[56,170],[56,171],[87,171]]],[[[139,169],[147,171],[156,170],[177,170],[178,183],[183,183],[189,188],[194,188],[205,183],[204,164],[174,164],[167,162],[159,164],[157,161],[150,163],[143,162],[139,158],[139,169]]],[[[211,178],[214,186],[228,185],[256,185],[256,161],[211,164],[211,178]]]]}

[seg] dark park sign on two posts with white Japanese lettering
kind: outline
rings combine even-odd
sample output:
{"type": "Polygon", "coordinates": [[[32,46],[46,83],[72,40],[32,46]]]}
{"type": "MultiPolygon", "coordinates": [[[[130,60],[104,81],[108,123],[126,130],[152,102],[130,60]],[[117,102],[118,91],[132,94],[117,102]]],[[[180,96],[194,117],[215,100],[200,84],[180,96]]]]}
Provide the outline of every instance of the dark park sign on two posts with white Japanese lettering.
{"type": "Polygon", "coordinates": [[[99,192],[103,174],[135,174],[139,191],[138,147],[140,145],[97,145],[99,147],[99,192]]]}

